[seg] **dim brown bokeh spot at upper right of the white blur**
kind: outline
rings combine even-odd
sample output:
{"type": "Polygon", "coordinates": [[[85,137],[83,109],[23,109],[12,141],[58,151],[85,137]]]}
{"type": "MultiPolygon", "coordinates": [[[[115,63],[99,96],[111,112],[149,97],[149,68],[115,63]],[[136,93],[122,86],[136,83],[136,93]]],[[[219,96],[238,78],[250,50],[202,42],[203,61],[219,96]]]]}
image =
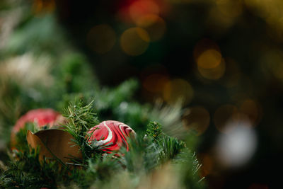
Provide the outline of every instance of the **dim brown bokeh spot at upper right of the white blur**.
{"type": "Polygon", "coordinates": [[[244,115],[247,115],[252,125],[255,125],[260,119],[258,103],[255,103],[255,101],[251,99],[243,101],[240,111],[244,115]]]}

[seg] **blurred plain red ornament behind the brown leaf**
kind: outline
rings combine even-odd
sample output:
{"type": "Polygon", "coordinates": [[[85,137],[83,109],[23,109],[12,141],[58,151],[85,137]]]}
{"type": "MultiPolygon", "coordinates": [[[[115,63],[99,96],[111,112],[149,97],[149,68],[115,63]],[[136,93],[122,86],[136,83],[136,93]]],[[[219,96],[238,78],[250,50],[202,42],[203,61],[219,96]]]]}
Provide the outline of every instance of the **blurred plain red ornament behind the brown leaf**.
{"type": "Polygon", "coordinates": [[[59,122],[63,122],[64,117],[52,110],[51,108],[47,109],[35,109],[30,110],[28,113],[25,113],[16,124],[13,126],[13,130],[11,133],[11,142],[14,142],[14,137],[16,133],[23,127],[25,127],[25,123],[27,122],[36,122],[38,127],[43,127],[45,125],[50,125],[52,127],[53,125],[57,125],[59,122]]]}

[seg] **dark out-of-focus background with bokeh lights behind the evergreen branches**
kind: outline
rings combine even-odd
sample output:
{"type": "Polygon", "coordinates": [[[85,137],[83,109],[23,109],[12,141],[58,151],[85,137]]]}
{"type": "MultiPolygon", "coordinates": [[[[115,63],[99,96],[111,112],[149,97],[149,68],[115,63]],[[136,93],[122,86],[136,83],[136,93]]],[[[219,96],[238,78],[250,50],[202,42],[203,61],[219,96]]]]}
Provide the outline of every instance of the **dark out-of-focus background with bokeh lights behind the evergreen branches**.
{"type": "MultiPolygon", "coordinates": [[[[24,88],[57,84],[47,70],[78,59],[67,54],[78,50],[101,86],[134,77],[140,103],[181,102],[183,127],[200,138],[208,188],[263,189],[279,181],[283,1],[4,0],[0,8],[1,81],[10,74],[24,88]],[[23,81],[18,70],[33,76],[23,81]]],[[[27,93],[40,98],[33,88],[27,93]]]]}

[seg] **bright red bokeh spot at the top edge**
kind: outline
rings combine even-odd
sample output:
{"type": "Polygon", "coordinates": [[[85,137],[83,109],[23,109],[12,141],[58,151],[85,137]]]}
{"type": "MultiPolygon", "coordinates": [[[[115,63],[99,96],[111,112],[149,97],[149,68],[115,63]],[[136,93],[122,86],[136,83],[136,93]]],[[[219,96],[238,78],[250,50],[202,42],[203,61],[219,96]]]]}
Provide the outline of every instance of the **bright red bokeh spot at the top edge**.
{"type": "Polygon", "coordinates": [[[134,1],[129,6],[129,14],[132,20],[137,23],[139,19],[148,14],[158,14],[159,7],[154,1],[150,0],[139,0],[134,1]]]}

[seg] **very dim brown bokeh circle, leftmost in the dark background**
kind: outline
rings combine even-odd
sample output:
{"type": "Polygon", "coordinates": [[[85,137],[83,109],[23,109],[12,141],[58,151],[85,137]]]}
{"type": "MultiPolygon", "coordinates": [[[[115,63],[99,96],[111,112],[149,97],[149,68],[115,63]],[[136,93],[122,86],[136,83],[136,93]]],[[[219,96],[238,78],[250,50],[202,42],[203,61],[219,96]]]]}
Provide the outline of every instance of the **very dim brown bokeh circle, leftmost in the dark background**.
{"type": "Polygon", "coordinates": [[[115,45],[115,31],[107,24],[96,25],[88,32],[87,43],[91,50],[105,53],[115,45]]]}

